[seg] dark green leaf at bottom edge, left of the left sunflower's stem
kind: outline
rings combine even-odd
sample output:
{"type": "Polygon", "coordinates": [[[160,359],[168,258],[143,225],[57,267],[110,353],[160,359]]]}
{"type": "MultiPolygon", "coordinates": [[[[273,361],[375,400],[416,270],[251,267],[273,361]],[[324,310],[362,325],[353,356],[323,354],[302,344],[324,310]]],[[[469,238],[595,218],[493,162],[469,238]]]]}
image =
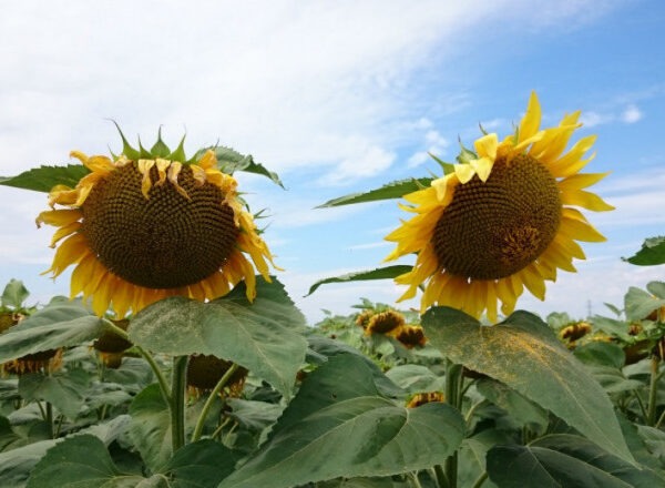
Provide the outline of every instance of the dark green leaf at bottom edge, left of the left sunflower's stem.
{"type": "MultiPolygon", "coordinates": [[[[143,480],[141,476],[121,474],[104,443],[84,434],[49,449],[34,467],[27,488],[134,488],[143,480]]],[[[156,478],[150,486],[168,487],[165,478],[161,481],[156,478]]]]}

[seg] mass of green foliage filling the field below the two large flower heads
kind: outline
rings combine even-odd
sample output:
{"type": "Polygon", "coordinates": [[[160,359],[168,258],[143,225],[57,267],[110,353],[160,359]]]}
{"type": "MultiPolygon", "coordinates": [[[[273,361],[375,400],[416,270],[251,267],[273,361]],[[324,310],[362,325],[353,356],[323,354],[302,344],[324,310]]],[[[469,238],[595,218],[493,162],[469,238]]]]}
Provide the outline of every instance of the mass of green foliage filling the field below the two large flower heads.
{"type": "Polygon", "coordinates": [[[648,316],[665,304],[663,286],[631,289],[626,318],[606,318],[627,329],[644,313],[635,336],[594,317],[571,350],[557,334],[571,322],[563,315],[546,324],[516,312],[488,327],[434,307],[420,321],[427,345],[409,349],[367,335],[356,315],[307,327],[283,286],[259,279],[253,304],[239,285],[206,304],[173,297],[147,307],[130,321],[133,348],[109,369],[90,347],[109,321],[59,297],[28,308],[12,281],[2,311],[23,318],[0,335],[0,363],[63,355],[58,370],[0,380],[0,486],[659,486],[659,358],[652,348],[627,365],[625,350],[626,337],[657,343],[662,316],[648,316]],[[601,333],[616,339],[591,339],[601,333]],[[192,354],[250,374],[239,398],[190,398],[188,441],[174,451],[173,403],[160,382],[175,375],[173,357],[192,354]],[[407,407],[431,393],[446,403],[407,407]],[[451,459],[457,485],[443,469],[451,459]]]}

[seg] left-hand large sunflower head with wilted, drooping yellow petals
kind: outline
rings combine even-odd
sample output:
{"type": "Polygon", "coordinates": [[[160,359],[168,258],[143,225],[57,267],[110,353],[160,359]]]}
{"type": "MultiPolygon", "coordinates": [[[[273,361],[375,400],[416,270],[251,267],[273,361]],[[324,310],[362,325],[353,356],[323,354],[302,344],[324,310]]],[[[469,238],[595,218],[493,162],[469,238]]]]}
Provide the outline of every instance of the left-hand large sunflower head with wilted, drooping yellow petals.
{"type": "Polygon", "coordinates": [[[184,138],[174,152],[161,134],[151,151],[121,138],[123,153],[113,157],[71,153],[90,172],[75,187],[54,186],[52,210],[37,217],[38,226],[59,227],[45,273],[74,265],[71,296],[82,293],[100,316],[112,309],[122,318],[172,295],[212,299],[243,279],[252,301],[254,266],[269,281],[268,262],[275,265],[215,152],[187,161],[184,138]]]}

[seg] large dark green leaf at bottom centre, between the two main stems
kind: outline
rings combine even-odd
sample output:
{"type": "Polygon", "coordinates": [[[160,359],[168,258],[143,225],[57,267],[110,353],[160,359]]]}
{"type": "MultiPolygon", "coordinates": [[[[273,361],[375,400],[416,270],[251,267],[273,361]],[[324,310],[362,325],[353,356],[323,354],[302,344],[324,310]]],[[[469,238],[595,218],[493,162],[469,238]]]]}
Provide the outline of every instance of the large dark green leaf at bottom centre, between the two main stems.
{"type": "Polygon", "coordinates": [[[431,467],[460,446],[466,425],[458,410],[398,406],[386,397],[396,387],[381,376],[359,356],[331,357],[305,379],[258,454],[219,487],[389,476],[431,467]]]}

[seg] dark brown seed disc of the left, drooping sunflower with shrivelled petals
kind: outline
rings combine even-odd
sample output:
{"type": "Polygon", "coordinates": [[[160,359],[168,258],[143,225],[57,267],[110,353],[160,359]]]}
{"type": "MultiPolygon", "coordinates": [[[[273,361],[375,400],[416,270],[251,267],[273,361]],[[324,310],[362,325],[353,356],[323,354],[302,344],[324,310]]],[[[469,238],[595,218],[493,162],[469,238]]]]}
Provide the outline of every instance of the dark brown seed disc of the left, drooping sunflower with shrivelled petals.
{"type": "Polygon", "coordinates": [[[81,232],[96,257],[121,278],[147,288],[176,288],[205,279],[234,251],[238,228],[222,190],[183,166],[180,190],[158,182],[146,199],[143,175],[131,162],[93,186],[82,205],[81,232]]]}

